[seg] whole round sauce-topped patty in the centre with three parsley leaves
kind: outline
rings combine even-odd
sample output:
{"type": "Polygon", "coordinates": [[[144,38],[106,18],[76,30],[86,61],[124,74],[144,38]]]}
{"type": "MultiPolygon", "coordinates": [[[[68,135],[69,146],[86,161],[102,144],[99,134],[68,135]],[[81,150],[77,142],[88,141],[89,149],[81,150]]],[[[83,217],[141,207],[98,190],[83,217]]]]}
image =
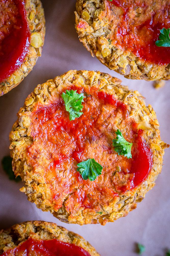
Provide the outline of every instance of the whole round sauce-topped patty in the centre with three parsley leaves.
{"type": "Polygon", "coordinates": [[[169,146],[160,139],[152,106],[142,99],[97,71],[70,70],[39,84],[9,135],[13,171],[25,182],[20,190],[28,200],[80,225],[105,225],[133,210],[155,185],[169,146]],[[82,105],[76,98],[80,112],[70,121],[66,98],[71,102],[73,94],[82,105]],[[132,146],[132,158],[124,146],[123,154],[117,148],[118,132],[132,146]]]}

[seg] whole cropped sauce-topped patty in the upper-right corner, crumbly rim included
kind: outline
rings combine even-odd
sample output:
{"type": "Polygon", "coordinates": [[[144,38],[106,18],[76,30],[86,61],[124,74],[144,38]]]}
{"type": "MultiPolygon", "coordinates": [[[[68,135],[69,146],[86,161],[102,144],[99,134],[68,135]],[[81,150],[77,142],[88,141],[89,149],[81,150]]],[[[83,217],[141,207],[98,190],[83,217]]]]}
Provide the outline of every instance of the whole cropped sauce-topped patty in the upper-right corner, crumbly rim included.
{"type": "Polygon", "coordinates": [[[91,55],[130,79],[170,79],[170,47],[158,47],[169,28],[169,0],[77,0],[76,30],[91,55]]]}

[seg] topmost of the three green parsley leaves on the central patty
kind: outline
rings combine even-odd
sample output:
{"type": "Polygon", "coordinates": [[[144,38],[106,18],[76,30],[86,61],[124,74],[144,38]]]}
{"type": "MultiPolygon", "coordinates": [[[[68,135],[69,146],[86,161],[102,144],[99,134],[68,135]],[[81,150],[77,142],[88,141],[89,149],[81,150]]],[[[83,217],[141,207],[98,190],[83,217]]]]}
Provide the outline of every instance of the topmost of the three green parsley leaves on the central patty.
{"type": "Polygon", "coordinates": [[[84,102],[83,98],[84,94],[83,93],[77,93],[77,90],[73,91],[68,91],[66,90],[66,93],[63,92],[61,97],[64,100],[66,111],[69,112],[69,119],[74,120],[75,118],[79,118],[83,112],[80,112],[83,108],[81,105],[82,102],[84,102]]]}

